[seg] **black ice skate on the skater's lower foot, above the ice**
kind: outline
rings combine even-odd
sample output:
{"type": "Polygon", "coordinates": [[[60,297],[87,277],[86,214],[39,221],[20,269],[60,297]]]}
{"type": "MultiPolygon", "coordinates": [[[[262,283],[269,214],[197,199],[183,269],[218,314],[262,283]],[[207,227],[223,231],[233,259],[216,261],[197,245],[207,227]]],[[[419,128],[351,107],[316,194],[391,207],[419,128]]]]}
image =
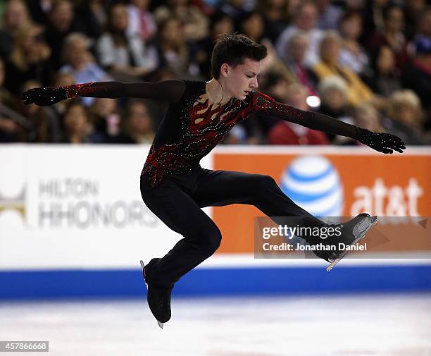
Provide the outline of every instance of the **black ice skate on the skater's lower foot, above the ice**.
{"type": "Polygon", "coordinates": [[[170,319],[170,295],[172,288],[158,288],[146,283],[146,266],[141,260],[142,276],[146,286],[146,300],[148,302],[151,313],[156,318],[158,326],[163,329],[165,322],[170,319]]]}

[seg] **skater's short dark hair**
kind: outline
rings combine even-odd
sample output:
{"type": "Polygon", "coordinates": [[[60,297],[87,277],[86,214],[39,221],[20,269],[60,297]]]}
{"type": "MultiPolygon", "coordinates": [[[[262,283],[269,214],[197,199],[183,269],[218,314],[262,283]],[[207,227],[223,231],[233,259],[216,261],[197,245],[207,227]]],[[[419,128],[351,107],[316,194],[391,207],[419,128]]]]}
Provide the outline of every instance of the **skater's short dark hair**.
{"type": "Polygon", "coordinates": [[[244,63],[246,58],[260,61],[267,54],[268,51],[263,44],[254,42],[246,35],[225,33],[218,39],[211,54],[211,75],[218,79],[223,63],[235,68],[238,64],[244,63]]]}

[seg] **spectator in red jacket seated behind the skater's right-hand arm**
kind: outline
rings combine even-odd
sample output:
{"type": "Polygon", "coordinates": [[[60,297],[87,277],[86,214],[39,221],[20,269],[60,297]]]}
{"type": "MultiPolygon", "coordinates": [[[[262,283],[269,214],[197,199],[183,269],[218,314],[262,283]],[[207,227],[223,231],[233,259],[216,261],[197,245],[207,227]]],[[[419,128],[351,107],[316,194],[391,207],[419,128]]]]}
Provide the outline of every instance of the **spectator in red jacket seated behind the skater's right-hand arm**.
{"type": "MultiPolygon", "coordinates": [[[[308,90],[304,85],[289,85],[285,94],[285,104],[297,109],[308,111],[306,99],[308,90]]],[[[268,143],[270,145],[327,145],[328,141],[324,133],[311,130],[296,123],[280,121],[275,124],[268,133],[268,143]]]]}

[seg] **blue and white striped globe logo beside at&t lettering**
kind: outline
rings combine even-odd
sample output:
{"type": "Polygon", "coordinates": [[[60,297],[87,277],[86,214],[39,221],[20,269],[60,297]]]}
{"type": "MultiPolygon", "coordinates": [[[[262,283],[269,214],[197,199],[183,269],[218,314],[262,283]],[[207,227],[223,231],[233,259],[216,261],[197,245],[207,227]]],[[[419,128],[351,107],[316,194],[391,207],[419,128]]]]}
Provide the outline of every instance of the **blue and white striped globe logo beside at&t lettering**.
{"type": "Polygon", "coordinates": [[[339,174],[322,156],[295,159],[281,178],[281,188],[299,207],[314,216],[342,216],[344,195],[339,174]]]}

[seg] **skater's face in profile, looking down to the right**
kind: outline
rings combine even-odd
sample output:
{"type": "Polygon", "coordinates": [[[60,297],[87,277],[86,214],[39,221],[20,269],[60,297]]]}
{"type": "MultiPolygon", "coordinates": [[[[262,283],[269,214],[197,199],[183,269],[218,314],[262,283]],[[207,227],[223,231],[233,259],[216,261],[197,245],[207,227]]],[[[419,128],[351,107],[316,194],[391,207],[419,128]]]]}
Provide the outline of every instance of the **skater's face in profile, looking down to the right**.
{"type": "Polygon", "coordinates": [[[246,58],[244,63],[235,68],[224,63],[221,75],[225,78],[225,86],[232,97],[244,100],[252,90],[258,87],[258,75],[261,72],[261,61],[246,58]]]}

